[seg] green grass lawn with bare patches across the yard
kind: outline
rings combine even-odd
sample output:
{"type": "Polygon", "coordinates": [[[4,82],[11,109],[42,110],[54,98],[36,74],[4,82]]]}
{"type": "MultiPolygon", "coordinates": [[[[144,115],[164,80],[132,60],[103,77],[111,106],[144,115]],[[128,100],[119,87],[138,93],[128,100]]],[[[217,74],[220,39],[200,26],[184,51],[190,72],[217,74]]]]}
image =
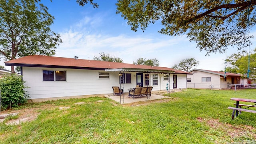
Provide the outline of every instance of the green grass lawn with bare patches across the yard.
{"type": "Polygon", "coordinates": [[[17,126],[1,123],[0,143],[256,143],[256,114],[242,112],[231,120],[232,110],[228,109],[234,106],[232,97],[256,99],[256,89],[189,89],[171,96],[124,105],[100,97],[29,104],[8,112],[39,114],[37,118],[17,126]],[[59,109],[65,106],[70,108],[59,109]]]}

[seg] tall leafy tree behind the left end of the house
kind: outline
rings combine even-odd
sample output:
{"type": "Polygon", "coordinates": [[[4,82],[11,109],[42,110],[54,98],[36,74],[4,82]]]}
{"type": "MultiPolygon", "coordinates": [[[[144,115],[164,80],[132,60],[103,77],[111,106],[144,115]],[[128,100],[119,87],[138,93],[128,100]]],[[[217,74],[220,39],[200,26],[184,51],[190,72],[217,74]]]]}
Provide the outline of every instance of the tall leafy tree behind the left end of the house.
{"type": "MultiPolygon", "coordinates": [[[[33,54],[55,54],[56,45],[62,40],[51,31],[54,17],[47,10],[38,0],[1,0],[0,56],[14,60],[33,54]]],[[[11,71],[14,72],[13,66],[11,71]]]]}

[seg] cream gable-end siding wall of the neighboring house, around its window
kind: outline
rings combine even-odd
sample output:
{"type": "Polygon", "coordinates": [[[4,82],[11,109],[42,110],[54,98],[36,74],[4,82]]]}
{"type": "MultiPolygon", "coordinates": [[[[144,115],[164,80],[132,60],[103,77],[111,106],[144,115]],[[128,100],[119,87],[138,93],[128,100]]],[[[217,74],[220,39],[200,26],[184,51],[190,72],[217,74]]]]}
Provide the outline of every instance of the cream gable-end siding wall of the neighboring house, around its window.
{"type": "Polygon", "coordinates": [[[193,75],[188,74],[187,78],[191,78],[191,82],[187,82],[188,88],[220,88],[220,76],[217,74],[197,71],[193,75]],[[211,77],[211,82],[202,82],[202,77],[211,77]]]}

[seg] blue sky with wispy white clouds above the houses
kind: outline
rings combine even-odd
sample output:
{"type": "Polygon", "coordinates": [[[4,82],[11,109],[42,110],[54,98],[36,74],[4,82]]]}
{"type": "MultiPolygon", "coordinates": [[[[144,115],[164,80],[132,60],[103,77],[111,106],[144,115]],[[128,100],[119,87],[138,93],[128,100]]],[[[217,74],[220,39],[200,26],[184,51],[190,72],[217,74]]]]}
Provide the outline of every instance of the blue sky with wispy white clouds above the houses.
{"type": "MultiPolygon", "coordinates": [[[[59,57],[93,59],[100,52],[121,58],[124,63],[132,63],[138,58],[158,59],[160,66],[171,68],[185,58],[195,58],[199,65],[194,68],[206,70],[224,70],[225,54],[210,54],[196,48],[195,42],[189,42],[183,36],[159,34],[161,22],[151,24],[145,32],[130,30],[126,20],[116,14],[116,0],[94,0],[99,8],[87,4],[82,7],[76,0],[42,0],[48,12],[54,16],[52,31],[60,34],[63,41],[57,46],[59,57]]],[[[250,34],[255,35],[255,31],[250,34]]],[[[253,44],[255,40],[252,40],[253,44]]],[[[254,49],[255,46],[250,46],[254,49]]],[[[247,50],[247,49],[246,49],[247,50]]],[[[236,53],[229,48],[227,56],[236,53]]],[[[6,66],[7,69],[8,66],[6,66]]]]}

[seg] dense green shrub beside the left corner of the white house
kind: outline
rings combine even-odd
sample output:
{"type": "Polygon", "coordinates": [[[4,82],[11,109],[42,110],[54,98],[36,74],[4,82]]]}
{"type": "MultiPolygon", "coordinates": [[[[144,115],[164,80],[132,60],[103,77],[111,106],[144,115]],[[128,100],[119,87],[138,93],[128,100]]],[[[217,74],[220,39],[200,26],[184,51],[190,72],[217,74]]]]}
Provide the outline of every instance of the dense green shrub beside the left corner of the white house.
{"type": "Polygon", "coordinates": [[[22,76],[9,74],[0,79],[1,107],[3,109],[18,107],[18,104],[27,102],[29,94],[24,90],[25,86],[22,76]]]}

